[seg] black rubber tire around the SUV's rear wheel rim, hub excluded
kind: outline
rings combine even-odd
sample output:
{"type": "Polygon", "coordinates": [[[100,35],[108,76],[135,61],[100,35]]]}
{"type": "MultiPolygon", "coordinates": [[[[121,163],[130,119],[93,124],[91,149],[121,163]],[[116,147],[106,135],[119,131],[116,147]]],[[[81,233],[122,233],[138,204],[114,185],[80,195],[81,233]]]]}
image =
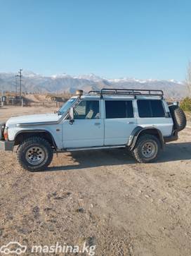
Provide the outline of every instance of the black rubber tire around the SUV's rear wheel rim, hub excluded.
{"type": "Polygon", "coordinates": [[[149,163],[157,160],[160,150],[161,143],[159,142],[159,139],[154,135],[145,134],[140,135],[138,141],[136,142],[135,148],[131,151],[131,154],[139,163],[149,163]],[[152,157],[145,157],[145,155],[143,154],[143,147],[144,145],[149,144],[153,145],[154,154],[152,155],[152,157]]]}

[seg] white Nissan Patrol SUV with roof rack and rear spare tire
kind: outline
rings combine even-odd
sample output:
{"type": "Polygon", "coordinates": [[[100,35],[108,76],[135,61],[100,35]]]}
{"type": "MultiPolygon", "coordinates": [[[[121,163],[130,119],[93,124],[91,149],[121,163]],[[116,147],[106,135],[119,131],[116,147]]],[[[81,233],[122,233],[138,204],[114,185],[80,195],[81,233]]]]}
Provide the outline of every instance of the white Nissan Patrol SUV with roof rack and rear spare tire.
{"type": "Polygon", "coordinates": [[[155,161],[186,126],[178,104],[162,90],[103,89],[69,99],[57,113],[14,116],[0,124],[0,149],[17,147],[29,171],[46,169],[53,152],[126,149],[138,162],[155,161]]]}

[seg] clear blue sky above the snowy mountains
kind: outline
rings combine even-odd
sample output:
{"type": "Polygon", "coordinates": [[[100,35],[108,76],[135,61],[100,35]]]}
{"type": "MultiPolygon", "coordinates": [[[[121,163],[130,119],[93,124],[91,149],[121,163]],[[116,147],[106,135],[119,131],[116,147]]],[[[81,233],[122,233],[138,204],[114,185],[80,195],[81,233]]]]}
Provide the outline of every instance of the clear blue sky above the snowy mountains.
{"type": "Polygon", "coordinates": [[[0,72],[184,80],[190,0],[0,0],[0,72]]]}

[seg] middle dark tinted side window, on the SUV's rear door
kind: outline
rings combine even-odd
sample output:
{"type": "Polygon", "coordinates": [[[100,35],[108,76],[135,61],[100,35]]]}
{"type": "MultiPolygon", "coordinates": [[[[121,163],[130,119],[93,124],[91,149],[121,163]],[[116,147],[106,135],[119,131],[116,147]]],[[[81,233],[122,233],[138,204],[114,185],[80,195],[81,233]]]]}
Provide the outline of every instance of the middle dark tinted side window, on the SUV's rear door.
{"type": "Polygon", "coordinates": [[[133,104],[131,100],[106,100],[106,118],[133,118],[133,104]]]}

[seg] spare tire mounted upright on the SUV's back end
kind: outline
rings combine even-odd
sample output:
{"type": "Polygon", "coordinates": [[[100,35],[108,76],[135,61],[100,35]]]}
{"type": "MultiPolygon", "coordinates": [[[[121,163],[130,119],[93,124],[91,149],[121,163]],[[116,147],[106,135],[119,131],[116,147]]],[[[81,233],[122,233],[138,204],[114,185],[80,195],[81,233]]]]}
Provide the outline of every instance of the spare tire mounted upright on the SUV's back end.
{"type": "Polygon", "coordinates": [[[173,125],[178,132],[183,130],[186,126],[186,116],[183,109],[180,109],[177,105],[169,106],[171,116],[173,118],[173,125]]]}

